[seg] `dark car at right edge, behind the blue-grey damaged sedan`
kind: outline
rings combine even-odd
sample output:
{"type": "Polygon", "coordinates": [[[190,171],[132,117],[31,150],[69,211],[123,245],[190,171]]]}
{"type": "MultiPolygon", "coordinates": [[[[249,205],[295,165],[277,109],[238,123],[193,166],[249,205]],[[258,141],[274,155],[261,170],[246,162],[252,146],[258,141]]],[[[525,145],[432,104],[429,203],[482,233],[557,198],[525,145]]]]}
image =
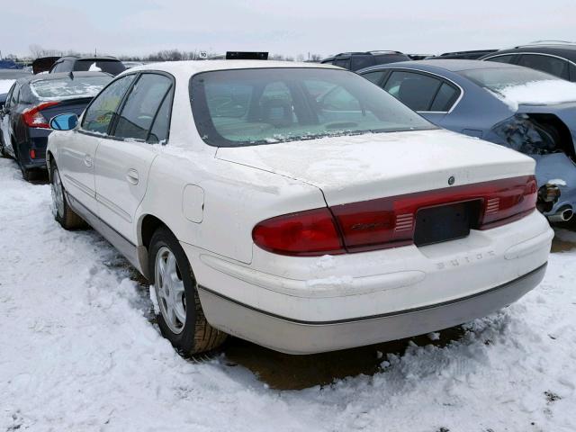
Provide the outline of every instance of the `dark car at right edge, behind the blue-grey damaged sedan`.
{"type": "Polygon", "coordinates": [[[479,59],[531,67],[576,82],[576,43],[572,42],[533,42],[501,49],[479,59]]]}

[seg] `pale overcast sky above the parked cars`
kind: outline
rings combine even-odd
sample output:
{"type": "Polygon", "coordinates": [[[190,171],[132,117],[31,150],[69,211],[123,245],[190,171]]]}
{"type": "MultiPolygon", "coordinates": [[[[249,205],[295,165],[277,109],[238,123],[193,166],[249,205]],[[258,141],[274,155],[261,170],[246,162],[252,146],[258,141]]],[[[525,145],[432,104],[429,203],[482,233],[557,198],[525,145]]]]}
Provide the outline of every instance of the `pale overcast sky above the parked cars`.
{"type": "Polygon", "coordinates": [[[576,40],[575,0],[0,0],[0,51],[440,53],[576,40]]]}

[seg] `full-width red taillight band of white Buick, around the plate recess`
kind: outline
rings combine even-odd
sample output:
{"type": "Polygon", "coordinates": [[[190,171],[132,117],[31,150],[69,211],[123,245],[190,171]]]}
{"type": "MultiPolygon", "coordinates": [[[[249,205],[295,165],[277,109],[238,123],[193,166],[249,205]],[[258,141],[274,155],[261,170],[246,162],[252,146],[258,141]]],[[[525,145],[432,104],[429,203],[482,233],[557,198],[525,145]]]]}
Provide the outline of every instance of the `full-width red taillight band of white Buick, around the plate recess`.
{"type": "Polygon", "coordinates": [[[473,229],[491,229],[536,209],[534,175],[408,193],[264,220],[252,231],[257,246],[290,256],[320,256],[407,246],[414,243],[420,209],[481,202],[473,229]]]}

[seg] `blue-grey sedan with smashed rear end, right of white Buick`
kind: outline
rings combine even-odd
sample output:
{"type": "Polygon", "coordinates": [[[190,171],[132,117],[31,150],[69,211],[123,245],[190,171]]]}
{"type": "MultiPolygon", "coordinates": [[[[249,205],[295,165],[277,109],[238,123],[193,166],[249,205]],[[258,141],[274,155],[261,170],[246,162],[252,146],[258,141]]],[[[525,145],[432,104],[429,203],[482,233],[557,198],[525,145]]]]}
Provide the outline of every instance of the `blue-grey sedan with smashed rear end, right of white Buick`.
{"type": "Polygon", "coordinates": [[[358,72],[438,126],[536,159],[538,209],[552,222],[576,206],[576,85],[538,70],[477,60],[421,60],[358,72]]]}

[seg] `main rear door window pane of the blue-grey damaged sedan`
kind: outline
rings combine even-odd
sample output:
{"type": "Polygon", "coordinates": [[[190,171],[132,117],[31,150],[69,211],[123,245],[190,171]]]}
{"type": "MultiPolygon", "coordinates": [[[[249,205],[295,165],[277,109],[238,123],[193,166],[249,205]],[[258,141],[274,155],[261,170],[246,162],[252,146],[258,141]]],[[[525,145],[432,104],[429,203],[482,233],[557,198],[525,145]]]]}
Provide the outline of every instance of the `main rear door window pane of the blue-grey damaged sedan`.
{"type": "Polygon", "coordinates": [[[384,90],[414,111],[428,111],[441,84],[439,79],[431,76],[394,71],[384,90]]]}

